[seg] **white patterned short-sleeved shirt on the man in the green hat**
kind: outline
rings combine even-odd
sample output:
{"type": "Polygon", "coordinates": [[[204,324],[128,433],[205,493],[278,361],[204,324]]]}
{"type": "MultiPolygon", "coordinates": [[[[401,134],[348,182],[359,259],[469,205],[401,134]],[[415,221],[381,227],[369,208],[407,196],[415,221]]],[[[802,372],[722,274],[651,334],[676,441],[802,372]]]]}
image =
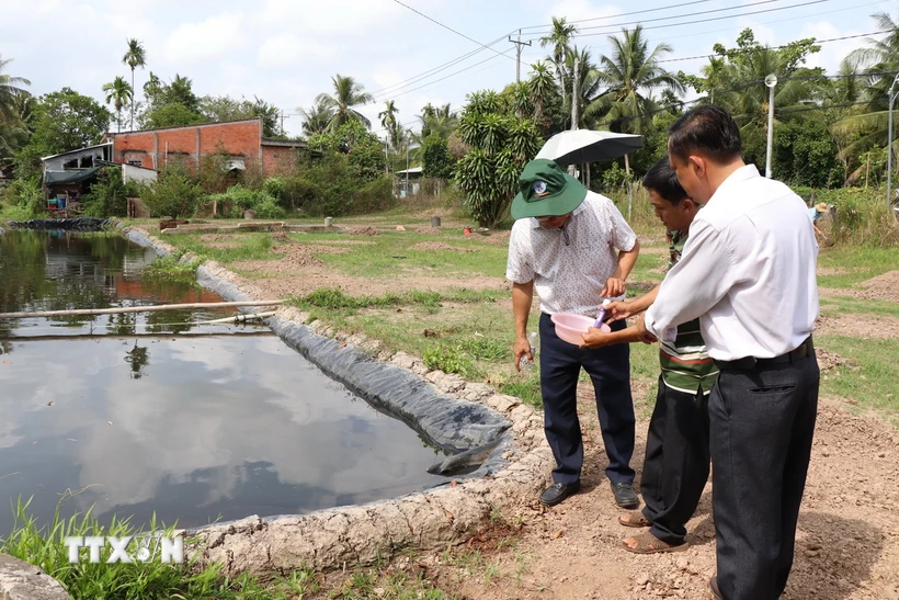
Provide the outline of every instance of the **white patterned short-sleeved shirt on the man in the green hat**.
{"type": "Polygon", "coordinates": [[[564,229],[545,228],[536,218],[515,222],[505,279],[533,281],[543,313],[595,317],[600,293],[618,267],[618,250],[630,251],[636,242],[615,204],[588,192],[564,229]]]}

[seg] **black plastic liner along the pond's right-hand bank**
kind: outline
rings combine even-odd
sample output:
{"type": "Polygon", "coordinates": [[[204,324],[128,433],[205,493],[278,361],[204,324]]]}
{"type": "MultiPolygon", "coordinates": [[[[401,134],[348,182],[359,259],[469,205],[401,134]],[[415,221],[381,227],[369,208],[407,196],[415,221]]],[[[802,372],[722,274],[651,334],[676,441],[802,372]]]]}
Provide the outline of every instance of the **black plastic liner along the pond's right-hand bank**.
{"type": "MultiPolygon", "coordinates": [[[[169,254],[167,249],[143,234],[128,230],[125,236],[135,244],[153,248],[160,256],[169,254]]],[[[254,299],[237,285],[213,275],[204,265],[197,268],[196,274],[200,285],[229,302],[254,299]]],[[[287,346],[329,377],[345,385],[376,410],[403,421],[434,446],[460,453],[499,439],[487,460],[465,477],[482,477],[508,465],[502,455],[512,448],[513,434],[509,430],[511,423],[499,412],[480,404],[441,394],[411,371],[375,360],[365,352],[319,336],[305,325],[277,316],[265,320],[287,346]]]]}

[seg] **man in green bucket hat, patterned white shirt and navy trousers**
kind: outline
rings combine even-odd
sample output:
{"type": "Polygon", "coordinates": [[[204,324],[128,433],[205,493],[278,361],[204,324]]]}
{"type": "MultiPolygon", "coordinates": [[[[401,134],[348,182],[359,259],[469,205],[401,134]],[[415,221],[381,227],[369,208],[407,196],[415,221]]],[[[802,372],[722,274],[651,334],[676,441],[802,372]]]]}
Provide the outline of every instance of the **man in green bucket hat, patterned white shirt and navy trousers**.
{"type": "MultiPolygon", "coordinates": [[[[634,230],[611,200],[590,192],[551,160],[535,159],[519,177],[512,201],[516,219],[509,240],[505,278],[512,282],[515,317],[515,367],[527,356],[527,317],[536,291],[540,303],[540,393],[544,429],[556,459],[553,485],[540,501],[554,506],[580,490],[583,440],[577,411],[578,376],[593,382],[615,502],[639,506],[633,489],[634,403],[630,354],[626,344],[579,348],[556,336],[557,313],[596,316],[604,299],[623,298],[625,281],[637,262],[634,230]]],[[[623,329],[623,321],[612,325],[623,329]]]]}

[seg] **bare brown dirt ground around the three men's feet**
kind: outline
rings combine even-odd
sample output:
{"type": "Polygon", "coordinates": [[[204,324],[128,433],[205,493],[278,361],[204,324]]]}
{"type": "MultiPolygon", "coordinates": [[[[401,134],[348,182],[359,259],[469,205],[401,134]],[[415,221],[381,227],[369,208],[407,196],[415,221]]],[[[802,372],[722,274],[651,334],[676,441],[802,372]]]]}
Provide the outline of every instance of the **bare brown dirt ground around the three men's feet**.
{"type": "MultiPolygon", "coordinates": [[[[641,397],[636,392],[635,397],[641,397]]],[[[710,598],[715,573],[712,486],[687,525],[686,553],[637,556],[619,548],[630,533],[617,524],[604,477],[605,454],[589,389],[580,389],[585,439],[584,490],[559,507],[536,499],[505,514],[522,522],[503,550],[481,556],[480,567],[436,557],[429,575],[467,598],[656,599],[710,598]]],[[[637,423],[642,465],[647,420],[637,423]]],[[[835,401],[821,400],[790,600],[899,600],[899,432],[870,418],[854,417],[835,401]]],[[[496,547],[496,544],[493,545],[496,547]]],[[[470,559],[468,561],[470,563],[470,559]]]]}

